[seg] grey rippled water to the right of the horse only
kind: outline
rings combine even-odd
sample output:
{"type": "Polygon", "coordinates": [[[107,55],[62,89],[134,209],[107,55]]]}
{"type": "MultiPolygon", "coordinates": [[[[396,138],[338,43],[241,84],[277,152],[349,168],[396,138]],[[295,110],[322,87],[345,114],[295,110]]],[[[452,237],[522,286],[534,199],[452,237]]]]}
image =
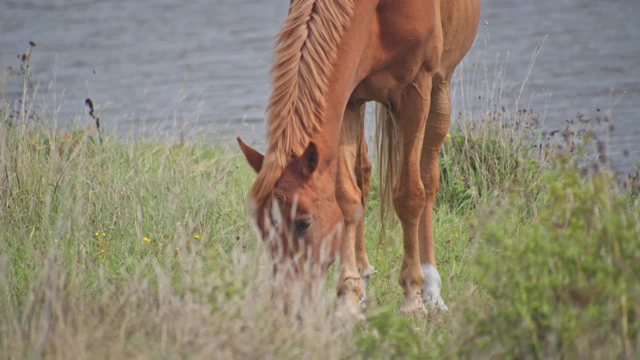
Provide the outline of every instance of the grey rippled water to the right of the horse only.
{"type": "Polygon", "coordinates": [[[504,60],[508,52],[505,84],[516,87],[544,40],[529,78],[533,95],[521,99],[530,98],[541,113],[546,109],[548,129],[563,128],[564,120],[579,112],[595,118],[610,111],[610,155],[627,171],[640,160],[639,18],[637,0],[486,0],[468,60],[483,63],[497,53],[504,60]],[[481,40],[487,32],[490,44],[485,47],[481,40]]]}

